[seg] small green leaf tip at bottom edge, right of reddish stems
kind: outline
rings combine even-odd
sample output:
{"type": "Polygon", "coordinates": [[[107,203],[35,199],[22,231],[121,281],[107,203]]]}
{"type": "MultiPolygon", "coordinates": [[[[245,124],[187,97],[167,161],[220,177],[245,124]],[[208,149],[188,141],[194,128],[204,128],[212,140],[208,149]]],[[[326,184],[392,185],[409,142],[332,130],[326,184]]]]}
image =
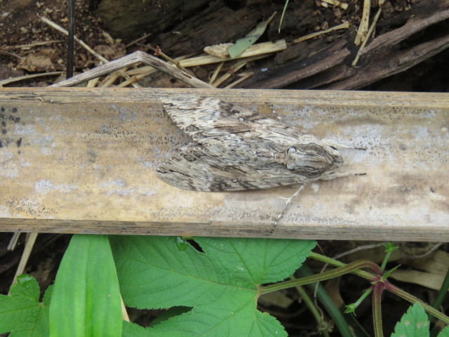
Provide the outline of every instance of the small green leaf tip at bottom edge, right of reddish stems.
{"type": "Polygon", "coordinates": [[[429,321],[427,320],[426,312],[422,306],[415,303],[401,318],[394,327],[394,333],[391,337],[428,337],[429,336],[429,321]]]}

